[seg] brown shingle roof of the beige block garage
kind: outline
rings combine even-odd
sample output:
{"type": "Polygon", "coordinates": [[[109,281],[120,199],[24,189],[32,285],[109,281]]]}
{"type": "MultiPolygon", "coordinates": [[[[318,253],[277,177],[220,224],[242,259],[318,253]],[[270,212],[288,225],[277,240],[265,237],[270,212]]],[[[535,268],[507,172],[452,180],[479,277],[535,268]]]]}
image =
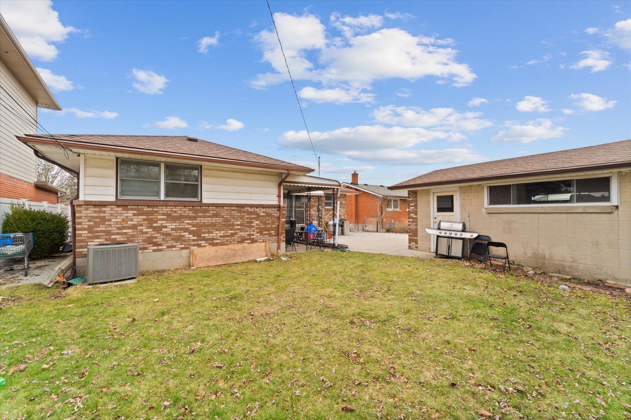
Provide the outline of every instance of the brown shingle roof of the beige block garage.
{"type": "Polygon", "coordinates": [[[533,174],[564,173],[581,169],[631,166],[631,140],[560,150],[500,161],[449,167],[432,171],[391,186],[405,190],[420,186],[457,184],[486,179],[513,178],[533,174]]]}

